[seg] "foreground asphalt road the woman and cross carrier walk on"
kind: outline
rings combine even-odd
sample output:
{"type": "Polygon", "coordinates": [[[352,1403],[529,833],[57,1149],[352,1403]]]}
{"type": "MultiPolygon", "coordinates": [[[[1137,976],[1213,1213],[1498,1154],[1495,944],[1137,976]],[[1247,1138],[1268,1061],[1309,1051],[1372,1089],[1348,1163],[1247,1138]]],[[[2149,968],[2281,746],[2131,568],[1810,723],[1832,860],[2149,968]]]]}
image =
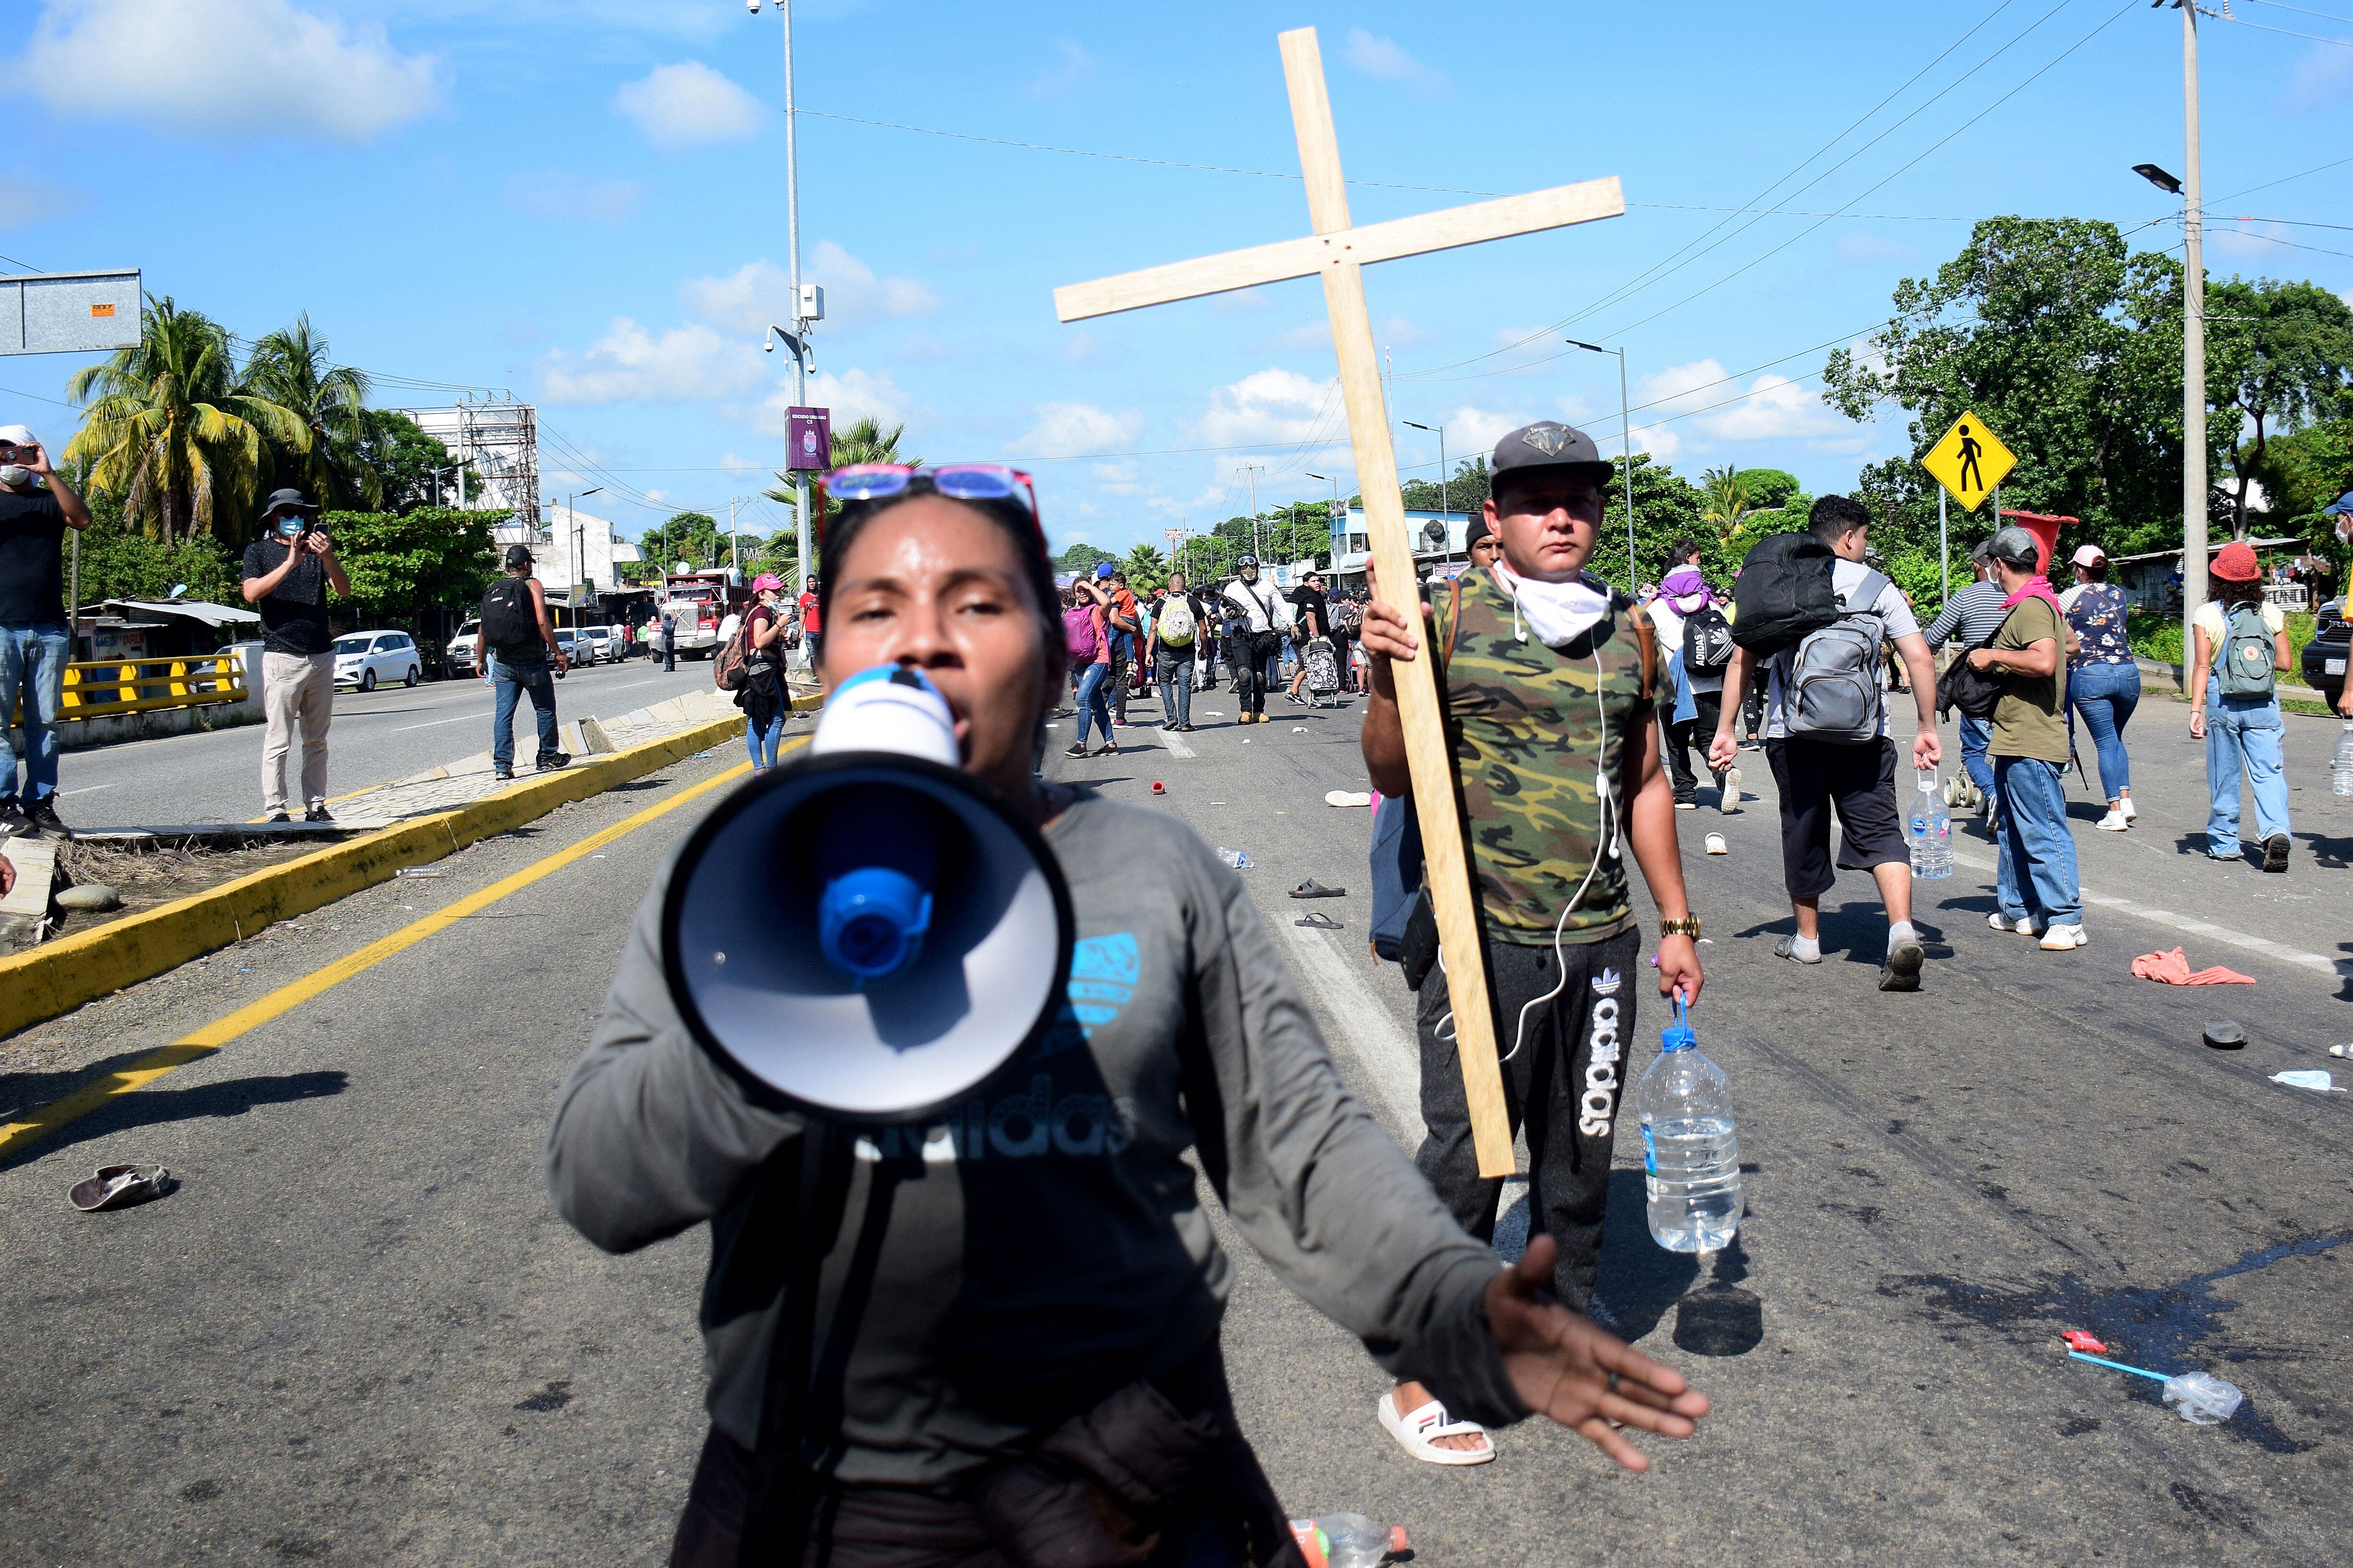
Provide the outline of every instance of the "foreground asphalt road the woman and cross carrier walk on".
{"type": "MultiPolygon", "coordinates": [[[[1191,755],[1129,729],[1120,757],[1056,752],[1052,771],[1247,849],[1240,877],[1344,1072],[1409,1145],[1409,997],[1365,954],[1367,818],[1322,804],[1360,783],[1355,715],[1278,701],[1278,722],[1235,729],[1202,710],[1231,717],[1231,701],[1198,701],[1191,755]],[[1346,931],[1289,924],[1282,889],[1304,877],[1348,889],[1315,905],[1346,931]]],[[[2325,1056],[2353,1039],[2353,985],[2327,966],[2353,952],[2353,802],[2320,785],[2337,729],[2289,722],[2292,771],[2315,788],[2294,797],[2294,870],[2266,877],[2181,849],[2202,769],[2169,705],[2144,715],[2141,825],[2078,835],[2085,884],[2132,910],[2097,905],[2092,945],[2047,954],[1986,929],[1991,872],[1965,863],[1920,900],[1934,943],[1911,997],[1875,990],[1885,926],[1857,875],[1824,900],[1819,969],[1772,957],[1788,910],[1760,759],[1744,759],[1744,811],[1680,813],[1713,938],[1694,1025],[1732,1077],[1748,1213],[1697,1279],[1649,1241],[1621,1147],[1602,1295],[1718,1413],[1689,1443],[1645,1439],[1647,1476],[1532,1425],[1501,1434],[1494,1465],[1414,1465],[1372,1420],[1374,1363],[1238,1248],[1233,1385],[1294,1512],[1402,1521],[1424,1563],[2341,1561],[2353,1095],[2268,1081],[2353,1077],[2325,1056]],[[1706,830],[1732,853],[1699,856],[1706,830]],[[2174,945],[2257,985],[2129,976],[2132,954],[2174,945]],[[2207,1018],[2242,1020],[2249,1046],[2207,1051],[2207,1018]],[[2207,1366],[2247,1408],[2191,1427],[2155,1385],[2066,1361],[2061,1328],[2125,1361],[2207,1366]]],[[[732,762],[567,806],[447,860],[447,879],[374,889],[33,1030],[56,1065],[0,1103],[54,1098],[732,762]]],[[[536,1157],[635,891],[696,813],[0,1168],[9,1556],[661,1559],[701,1436],[706,1244],[593,1253],[551,1213],[536,1157]],[[184,1185],[118,1215],[66,1206],[94,1164],[134,1157],[184,1185]]],[[[1984,844],[1962,853],[1991,863],[1984,844]]],[[[1628,1032],[1631,1072],[1659,1020],[1647,1004],[1628,1032]]]]}

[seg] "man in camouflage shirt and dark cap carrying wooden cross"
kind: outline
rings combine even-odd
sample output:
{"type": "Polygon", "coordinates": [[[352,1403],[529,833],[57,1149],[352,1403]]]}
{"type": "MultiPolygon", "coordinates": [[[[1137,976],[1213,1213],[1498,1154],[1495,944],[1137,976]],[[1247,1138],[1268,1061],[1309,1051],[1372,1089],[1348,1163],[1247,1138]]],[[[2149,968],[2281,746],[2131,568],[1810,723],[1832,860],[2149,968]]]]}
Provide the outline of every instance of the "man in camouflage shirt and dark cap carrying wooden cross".
{"type": "MultiPolygon", "coordinates": [[[[1492,473],[1485,524],[1504,557],[1433,588],[1424,628],[1388,599],[1365,609],[1365,771],[1384,795],[1412,792],[1393,663],[1428,646],[1478,884],[1506,1107],[1513,1128],[1527,1128],[1529,1237],[1560,1246],[1560,1302],[1612,1328],[1593,1312],[1593,1281],[1619,1067],[1633,1039],[1631,976],[1642,961],[1626,849],[1661,917],[1659,994],[1694,1001],[1701,985],[1699,919],[1682,891],[1675,797],[1652,724],[1666,656],[1633,604],[1584,571],[1612,473],[1593,440],[1527,425],[1497,442],[1492,473]]],[[[1428,1135],[1414,1164],[1464,1229],[1494,1241],[1504,1182],[1480,1175],[1438,976],[1421,985],[1417,1020],[1428,1135]]],[[[1433,1465],[1494,1458],[1487,1434],[1447,1420],[1419,1382],[1384,1399],[1381,1425],[1433,1465]]]]}

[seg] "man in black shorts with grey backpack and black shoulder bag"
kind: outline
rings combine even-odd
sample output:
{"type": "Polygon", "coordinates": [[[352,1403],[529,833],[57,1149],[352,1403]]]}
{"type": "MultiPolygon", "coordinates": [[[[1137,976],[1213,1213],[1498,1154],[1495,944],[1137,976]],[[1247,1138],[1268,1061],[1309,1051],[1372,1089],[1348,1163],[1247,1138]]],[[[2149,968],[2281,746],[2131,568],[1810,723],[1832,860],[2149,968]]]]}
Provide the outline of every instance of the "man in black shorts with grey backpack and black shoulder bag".
{"type": "MultiPolygon", "coordinates": [[[[1805,536],[1772,536],[1741,564],[1741,614],[1732,623],[1741,642],[1725,670],[1727,691],[1744,691],[1760,658],[1769,670],[1765,759],[1781,792],[1781,882],[1798,917],[1798,931],[1784,936],[1774,954],[1819,964],[1821,896],[1838,882],[1838,867],[1866,870],[1887,905],[1880,990],[1911,992],[1920,990],[1927,950],[1911,922],[1911,846],[1897,813],[1897,743],[1880,691],[1880,649],[1894,642],[1911,672],[1920,712],[1915,769],[1944,762],[1937,738],[1937,670],[1911,604],[1894,583],[1864,564],[1871,545],[1871,512],[1864,503],[1824,496],[1809,520],[1805,536]],[[1826,581],[1814,581],[1817,574],[1826,581]],[[1805,630],[1784,646],[1767,646],[1777,642],[1779,628],[1805,630]],[[1835,865],[1833,809],[1840,827],[1835,865]]],[[[1732,708],[1718,715],[1708,766],[1729,769],[1739,757],[1734,717],[1732,708]]]]}

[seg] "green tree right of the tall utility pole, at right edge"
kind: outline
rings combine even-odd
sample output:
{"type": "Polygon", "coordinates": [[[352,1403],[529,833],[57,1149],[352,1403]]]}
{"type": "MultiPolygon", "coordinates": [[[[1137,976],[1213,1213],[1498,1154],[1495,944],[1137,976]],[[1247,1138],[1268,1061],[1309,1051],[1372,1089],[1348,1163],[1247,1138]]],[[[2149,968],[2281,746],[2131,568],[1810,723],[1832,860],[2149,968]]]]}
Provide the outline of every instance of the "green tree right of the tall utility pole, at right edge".
{"type": "Polygon", "coordinates": [[[2334,409],[2353,376],[2353,306],[2308,282],[2231,280],[2207,289],[2207,334],[2214,409],[2247,430],[2231,447],[2231,534],[2247,538],[2247,487],[2266,449],[2334,409]]]}

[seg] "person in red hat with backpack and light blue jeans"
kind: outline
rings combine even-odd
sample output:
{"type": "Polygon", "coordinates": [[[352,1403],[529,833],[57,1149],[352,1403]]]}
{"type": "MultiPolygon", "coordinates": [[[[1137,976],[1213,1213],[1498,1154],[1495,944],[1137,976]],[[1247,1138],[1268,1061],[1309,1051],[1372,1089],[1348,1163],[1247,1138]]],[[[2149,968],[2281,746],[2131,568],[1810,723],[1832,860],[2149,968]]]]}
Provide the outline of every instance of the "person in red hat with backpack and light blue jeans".
{"type": "Polygon", "coordinates": [[[2207,858],[2238,860],[2238,776],[2254,795],[2264,870],[2287,870],[2287,776],[2280,771],[2280,670],[2287,618],[2264,604],[2264,569],[2242,538],[2207,567],[2214,597],[2191,616],[2191,738],[2207,743],[2207,858]]]}

